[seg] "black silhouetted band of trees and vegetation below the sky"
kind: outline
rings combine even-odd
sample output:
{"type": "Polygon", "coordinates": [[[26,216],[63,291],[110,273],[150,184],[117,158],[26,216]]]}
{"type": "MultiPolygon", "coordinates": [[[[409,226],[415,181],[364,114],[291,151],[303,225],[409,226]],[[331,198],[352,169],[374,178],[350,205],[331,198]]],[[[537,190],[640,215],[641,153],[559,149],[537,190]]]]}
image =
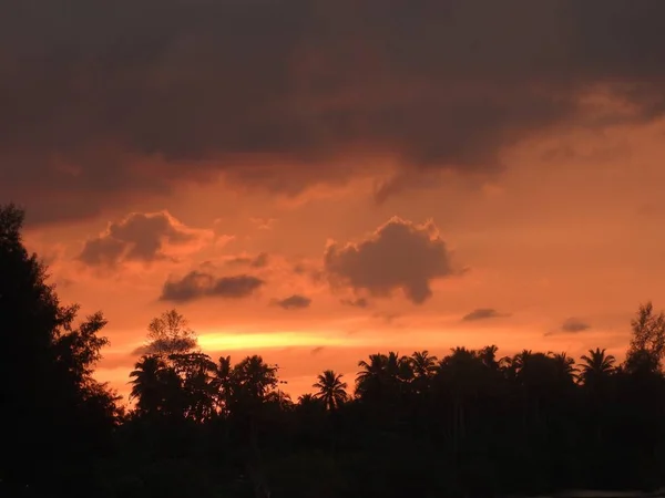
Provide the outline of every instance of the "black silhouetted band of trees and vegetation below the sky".
{"type": "Polygon", "coordinates": [[[651,303],[623,364],[602,349],[579,363],[495,346],[375,354],[354,384],[325,371],[297,402],[276,366],[212,360],[168,311],[125,412],[92,376],[104,317],[76,321],[58,301],[22,220],[0,207],[1,496],[482,497],[665,480],[665,317],[651,303]]]}

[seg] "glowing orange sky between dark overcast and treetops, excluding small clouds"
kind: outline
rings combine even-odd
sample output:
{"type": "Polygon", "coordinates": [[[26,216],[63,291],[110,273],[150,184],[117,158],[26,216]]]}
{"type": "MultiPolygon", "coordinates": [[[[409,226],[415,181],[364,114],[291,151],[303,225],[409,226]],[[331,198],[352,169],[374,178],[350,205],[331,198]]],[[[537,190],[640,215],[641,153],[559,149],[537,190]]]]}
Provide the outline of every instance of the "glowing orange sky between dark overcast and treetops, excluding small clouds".
{"type": "MultiPolygon", "coordinates": [[[[311,188],[297,201],[237,191],[223,179],[184,185],[167,199],[31,229],[27,242],[50,262],[64,301],[106,313],[111,346],[98,376],[124,393],[136,360],[132,350],[143,343],[151,318],[171,307],[187,317],[204,351],[237,360],[260,353],[279,364],[294,395],[307,392],[324,369],[352,378],[356,362],[377,351],[444,354],[453,345],[494,343],[505,354],[529,347],[580,355],[600,345],[621,355],[637,304],[653,299],[658,307],[663,297],[664,133],[665,122],[601,136],[557,131],[505,151],[510,167],[492,180],[446,175],[380,206],[370,200],[371,178],[311,188]],[[153,260],[120,258],[109,267],[78,259],[88,241],[108,236],[110,224],[132,214],[156,214],[192,239],[170,242],[162,227],[155,240],[163,256],[153,260]],[[392,243],[372,255],[396,258],[382,270],[398,282],[388,280],[386,295],[356,295],[348,283],[330,284],[327,245],[361,243],[393,216],[413,224],[416,234],[431,220],[438,232],[423,237],[446,242],[456,272],[432,271],[430,278],[426,268],[431,298],[411,302],[400,273],[422,273],[419,261],[427,255],[417,245],[392,243]],[[254,268],[249,260],[262,252],[265,266],[254,268]],[[231,261],[237,258],[247,261],[231,261]],[[266,283],[244,298],[158,300],[165,281],[192,270],[256,276],[266,283]],[[293,294],[311,302],[301,309],[276,304],[293,294]],[[367,308],[341,303],[358,297],[367,308]],[[497,317],[462,320],[475,309],[493,309],[497,317]],[[585,330],[564,331],[569,319],[585,330]]],[[[127,248],[146,234],[131,234],[127,248]]]]}

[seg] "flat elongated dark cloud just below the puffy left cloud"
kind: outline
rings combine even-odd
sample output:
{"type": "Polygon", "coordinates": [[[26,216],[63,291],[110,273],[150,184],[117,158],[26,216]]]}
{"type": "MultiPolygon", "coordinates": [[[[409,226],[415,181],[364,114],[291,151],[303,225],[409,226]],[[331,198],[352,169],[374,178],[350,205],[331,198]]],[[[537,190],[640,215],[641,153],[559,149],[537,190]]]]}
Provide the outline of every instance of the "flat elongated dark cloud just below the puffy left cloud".
{"type": "Polygon", "coordinates": [[[202,298],[241,299],[249,297],[264,284],[264,280],[249,274],[214,277],[192,271],[180,280],[167,280],[160,300],[184,303],[202,298]]]}

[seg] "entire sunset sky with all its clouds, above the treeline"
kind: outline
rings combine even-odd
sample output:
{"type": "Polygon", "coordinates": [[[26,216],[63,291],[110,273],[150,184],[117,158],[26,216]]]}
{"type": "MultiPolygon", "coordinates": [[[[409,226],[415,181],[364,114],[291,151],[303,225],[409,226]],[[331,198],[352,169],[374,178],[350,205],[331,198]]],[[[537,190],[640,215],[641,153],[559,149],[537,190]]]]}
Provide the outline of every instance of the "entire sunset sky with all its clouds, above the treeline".
{"type": "Polygon", "coordinates": [[[175,308],[294,397],[370,353],[622,356],[665,307],[662,0],[10,0],[0,201],[127,393],[175,308]]]}

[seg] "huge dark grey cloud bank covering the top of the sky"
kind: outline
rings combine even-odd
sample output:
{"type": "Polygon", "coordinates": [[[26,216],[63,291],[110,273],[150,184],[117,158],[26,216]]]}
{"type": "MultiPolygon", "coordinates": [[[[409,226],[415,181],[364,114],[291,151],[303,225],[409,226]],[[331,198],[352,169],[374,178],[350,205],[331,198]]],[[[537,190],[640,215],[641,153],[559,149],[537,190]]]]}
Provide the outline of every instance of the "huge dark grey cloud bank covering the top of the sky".
{"type": "Polygon", "coordinates": [[[355,153],[498,170],[550,126],[662,116],[663,19],[662,0],[2,2],[0,196],[47,221],[216,172],[294,194],[355,153]],[[604,84],[630,115],[581,106],[604,84]]]}

